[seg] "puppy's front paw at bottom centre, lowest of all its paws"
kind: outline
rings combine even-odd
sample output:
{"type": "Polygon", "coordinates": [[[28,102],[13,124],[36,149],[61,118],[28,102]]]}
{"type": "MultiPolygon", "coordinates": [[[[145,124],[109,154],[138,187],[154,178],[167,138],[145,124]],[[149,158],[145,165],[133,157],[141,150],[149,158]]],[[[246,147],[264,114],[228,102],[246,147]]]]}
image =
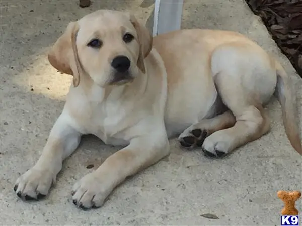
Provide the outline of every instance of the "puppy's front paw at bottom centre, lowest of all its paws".
{"type": "Polygon", "coordinates": [[[101,207],[112,189],[102,181],[96,172],[84,176],[72,189],[73,204],[81,209],[101,207]]]}

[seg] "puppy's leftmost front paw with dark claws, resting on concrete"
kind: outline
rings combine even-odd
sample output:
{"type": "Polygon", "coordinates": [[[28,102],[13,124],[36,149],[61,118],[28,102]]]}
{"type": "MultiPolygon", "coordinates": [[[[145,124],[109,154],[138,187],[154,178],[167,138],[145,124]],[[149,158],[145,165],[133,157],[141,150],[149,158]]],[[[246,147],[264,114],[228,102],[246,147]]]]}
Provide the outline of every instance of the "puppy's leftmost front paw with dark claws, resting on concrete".
{"type": "Polygon", "coordinates": [[[17,196],[25,200],[39,200],[44,198],[55,181],[50,169],[31,168],[20,176],[14,186],[17,196]]]}

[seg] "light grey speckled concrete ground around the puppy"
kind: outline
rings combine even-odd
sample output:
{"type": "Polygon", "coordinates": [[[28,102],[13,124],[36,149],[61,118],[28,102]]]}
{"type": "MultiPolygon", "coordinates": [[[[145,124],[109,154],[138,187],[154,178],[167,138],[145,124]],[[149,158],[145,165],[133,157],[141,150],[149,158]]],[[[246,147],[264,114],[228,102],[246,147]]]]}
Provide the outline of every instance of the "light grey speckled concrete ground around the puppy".
{"type": "MultiPolygon", "coordinates": [[[[46,53],[71,20],[98,9],[132,10],[152,22],[152,1],[1,2],[1,225],[278,225],[280,189],[301,190],[302,158],[290,146],[276,99],[268,105],[271,131],[221,160],[187,152],[171,141],[171,155],[119,186],[100,209],[74,207],[72,185],[117,150],[95,137],[83,139],[65,161],[57,185],[40,202],[23,202],[16,179],[37,161],[59,116],[71,77],[50,66],[46,53]],[[212,213],[219,219],[201,214],[212,213]]],[[[183,28],[239,31],[274,53],[292,76],[299,109],[302,79],[280,53],[244,0],[184,4],[183,28]]],[[[299,115],[301,121],[301,115],[299,115]]],[[[302,129],[301,129],[302,131],[302,129]]],[[[302,212],[302,201],[296,203],[302,212]]]]}

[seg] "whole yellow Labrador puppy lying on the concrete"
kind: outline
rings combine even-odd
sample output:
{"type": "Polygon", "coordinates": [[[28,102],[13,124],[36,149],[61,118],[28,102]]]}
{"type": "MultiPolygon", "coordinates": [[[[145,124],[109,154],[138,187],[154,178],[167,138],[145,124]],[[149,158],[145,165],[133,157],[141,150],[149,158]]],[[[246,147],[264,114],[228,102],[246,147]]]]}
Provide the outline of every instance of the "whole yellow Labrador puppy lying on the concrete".
{"type": "Polygon", "coordinates": [[[274,92],[302,154],[287,74],[241,34],[193,29],[152,38],[134,16],[100,10],[71,22],[48,59],[73,84],[41,157],[16,182],[23,199],[48,193],[83,134],[124,146],[75,183],[73,203],[83,209],[100,207],[126,177],[167,156],[170,137],[224,156],[268,132],[262,106],[274,92]]]}

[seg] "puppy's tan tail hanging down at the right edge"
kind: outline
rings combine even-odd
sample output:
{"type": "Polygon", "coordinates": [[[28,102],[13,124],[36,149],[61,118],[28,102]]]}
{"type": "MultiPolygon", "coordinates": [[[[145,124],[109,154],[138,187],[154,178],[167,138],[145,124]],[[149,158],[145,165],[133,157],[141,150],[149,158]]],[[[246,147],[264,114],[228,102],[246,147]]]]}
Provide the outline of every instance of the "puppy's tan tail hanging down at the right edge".
{"type": "Polygon", "coordinates": [[[299,136],[299,122],[296,120],[296,102],[292,94],[290,78],[281,64],[275,60],[277,72],[277,85],[275,94],[282,107],[282,117],[285,132],[292,147],[302,155],[302,144],[299,136]]]}

